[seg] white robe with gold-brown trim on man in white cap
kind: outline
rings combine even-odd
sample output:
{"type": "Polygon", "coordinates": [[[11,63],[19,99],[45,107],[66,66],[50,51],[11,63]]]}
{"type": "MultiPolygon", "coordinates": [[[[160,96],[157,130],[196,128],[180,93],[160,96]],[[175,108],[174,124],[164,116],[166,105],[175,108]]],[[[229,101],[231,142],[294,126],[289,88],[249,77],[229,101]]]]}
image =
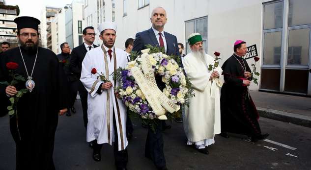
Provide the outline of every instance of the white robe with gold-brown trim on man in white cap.
{"type": "MultiPolygon", "coordinates": [[[[103,46],[106,51],[108,48],[103,46]]],[[[121,67],[125,68],[127,63],[127,56],[122,49],[112,48],[112,55],[116,55],[116,69],[121,67]]],[[[109,70],[109,80],[113,83],[113,87],[117,87],[119,84],[114,84],[113,75],[114,72],[114,57],[110,60],[108,52],[106,54],[109,70]]],[[[112,145],[114,140],[113,129],[113,111],[116,121],[117,135],[118,135],[118,148],[123,150],[128,145],[126,139],[126,107],[122,100],[114,96],[114,88],[109,90],[102,90],[102,94],[96,93],[100,88],[102,81],[97,79],[98,74],[92,74],[91,70],[95,68],[97,73],[103,73],[106,76],[106,67],[104,60],[104,52],[102,47],[97,47],[88,51],[82,62],[81,82],[85,86],[88,92],[87,97],[87,129],[86,129],[86,141],[90,142],[97,140],[98,144],[109,143],[112,145]],[[110,92],[109,102],[107,92],[110,92]],[[109,103],[109,109],[107,109],[107,103],[109,103]],[[118,109],[117,109],[118,105],[118,109]]],[[[108,77],[106,76],[106,79],[108,77]]]]}

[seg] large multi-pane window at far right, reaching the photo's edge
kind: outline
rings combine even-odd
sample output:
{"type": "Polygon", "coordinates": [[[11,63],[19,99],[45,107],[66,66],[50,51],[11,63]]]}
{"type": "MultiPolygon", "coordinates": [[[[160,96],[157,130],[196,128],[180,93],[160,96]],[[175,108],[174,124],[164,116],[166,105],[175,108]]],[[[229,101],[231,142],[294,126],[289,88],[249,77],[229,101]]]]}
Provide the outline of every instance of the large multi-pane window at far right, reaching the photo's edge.
{"type": "Polygon", "coordinates": [[[310,6],[311,0],[263,3],[260,89],[311,95],[310,6]]]}

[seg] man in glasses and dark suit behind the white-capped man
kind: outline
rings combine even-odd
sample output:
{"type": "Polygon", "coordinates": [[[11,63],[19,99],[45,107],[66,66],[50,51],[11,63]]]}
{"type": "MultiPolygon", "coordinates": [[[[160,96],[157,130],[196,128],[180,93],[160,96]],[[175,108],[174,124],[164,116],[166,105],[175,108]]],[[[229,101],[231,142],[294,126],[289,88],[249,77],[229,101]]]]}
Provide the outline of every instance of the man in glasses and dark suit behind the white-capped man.
{"type": "MultiPolygon", "coordinates": [[[[84,43],[74,49],[71,52],[71,58],[69,61],[69,67],[72,73],[76,75],[78,79],[81,76],[82,61],[87,51],[96,48],[94,45],[95,31],[93,26],[85,27],[82,31],[84,43]]],[[[78,81],[78,91],[81,98],[82,109],[83,109],[83,120],[84,126],[87,127],[87,91],[85,90],[82,82],[78,81]]]]}

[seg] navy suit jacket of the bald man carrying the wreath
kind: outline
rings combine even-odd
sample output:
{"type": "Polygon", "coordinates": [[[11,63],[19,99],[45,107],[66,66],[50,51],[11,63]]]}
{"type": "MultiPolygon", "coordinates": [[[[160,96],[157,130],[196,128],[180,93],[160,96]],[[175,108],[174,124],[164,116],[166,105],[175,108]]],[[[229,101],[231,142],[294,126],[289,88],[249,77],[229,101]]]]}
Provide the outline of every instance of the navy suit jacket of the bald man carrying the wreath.
{"type": "MultiPolygon", "coordinates": [[[[165,31],[164,31],[164,36],[165,36],[165,40],[167,44],[167,54],[179,56],[176,36],[170,33],[167,33],[165,31]]],[[[134,47],[132,51],[137,51],[138,53],[141,53],[141,50],[146,49],[145,45],[148,45],[148,44],[150,44],[153,47],[156,47],[156,46],[160,47],[157,37],[155,36],[152,28],[136,34],[136,38],[134,41],[134,47]]]]}

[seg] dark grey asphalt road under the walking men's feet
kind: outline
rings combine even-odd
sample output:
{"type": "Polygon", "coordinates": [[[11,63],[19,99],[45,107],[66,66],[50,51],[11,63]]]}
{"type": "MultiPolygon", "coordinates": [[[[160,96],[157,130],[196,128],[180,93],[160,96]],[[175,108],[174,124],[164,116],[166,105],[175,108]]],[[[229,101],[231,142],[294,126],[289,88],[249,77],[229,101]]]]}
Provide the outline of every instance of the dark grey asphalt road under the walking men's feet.
{"type": "MultiPolygon", "coordinates": [[[[57,170],[115,170],[113,147],[104,145],[102,161],[92,159],[86,143],[80,100],[77,113],[59,117],[54,163],[57,170]]],[[[15,144],[9,131],[8,116],[0,118],[0,170],[15,169],[15,144]]],[[[260,118],[263,133],[270,133],[270,142],[252,144],[246,136],[230,134],[225,139],[216,135],[209,146],[209,155],[186,145],[182,123],[172,122],[164,132],[165,156],[169,170],[311,170],[311,128],[282,121],[260,118]],[[272,143],[271,143],[272,141],[272,143]],[[274,142],[281,143],[276,145],[274,142]],[[287,148],[286,148],[287,147],[287,148]]],[[[129,170],[156,170],[144,157],[147,130],[134,120],[134,137],[128,146],[129,170]]]]}

